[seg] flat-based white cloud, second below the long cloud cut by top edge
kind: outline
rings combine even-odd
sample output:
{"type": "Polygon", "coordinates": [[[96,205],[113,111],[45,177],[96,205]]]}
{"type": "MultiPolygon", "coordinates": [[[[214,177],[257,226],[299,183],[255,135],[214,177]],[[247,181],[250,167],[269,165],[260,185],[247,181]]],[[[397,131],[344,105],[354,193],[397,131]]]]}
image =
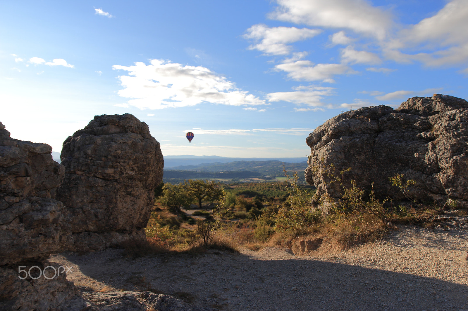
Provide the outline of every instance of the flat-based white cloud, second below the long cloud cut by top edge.
{"type": "Polygon", "coordinates": [[[342,74],[355,74],[345,64],[314,64],[309,60],[286,59],[283,64],[276,65],[277,70],[287,72],[287,77],[297,81],[316,81],[333,83],[333,76],[342,74]]]}

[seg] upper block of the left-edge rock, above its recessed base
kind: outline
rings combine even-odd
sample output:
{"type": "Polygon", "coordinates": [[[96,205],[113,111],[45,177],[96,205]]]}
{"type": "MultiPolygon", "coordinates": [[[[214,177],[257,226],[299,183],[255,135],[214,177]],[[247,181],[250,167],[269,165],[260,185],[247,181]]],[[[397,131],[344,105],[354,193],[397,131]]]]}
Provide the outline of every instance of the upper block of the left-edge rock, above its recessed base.
{"type": "Polygon", "coordinates": [[[51,151],[43,143],[10,138],[0,123],[0,266],[42,260],[69,241],[66,211],[54,199],[65,168],[51,151]]]}

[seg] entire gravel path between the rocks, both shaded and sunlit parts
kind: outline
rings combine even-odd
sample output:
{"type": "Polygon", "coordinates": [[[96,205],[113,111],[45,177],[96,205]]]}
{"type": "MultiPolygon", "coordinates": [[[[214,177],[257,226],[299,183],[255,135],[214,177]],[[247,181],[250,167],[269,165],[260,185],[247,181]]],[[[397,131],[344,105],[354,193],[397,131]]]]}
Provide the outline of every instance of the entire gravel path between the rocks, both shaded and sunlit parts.
{"type": "Polygon", "coordinates": [[[50,259],[95,290],[151,290],[220,310],[468,310],[468,231],[401,227],[379,243],[318,257],[210,250],[128,259],[108,249],[50,259]]]}

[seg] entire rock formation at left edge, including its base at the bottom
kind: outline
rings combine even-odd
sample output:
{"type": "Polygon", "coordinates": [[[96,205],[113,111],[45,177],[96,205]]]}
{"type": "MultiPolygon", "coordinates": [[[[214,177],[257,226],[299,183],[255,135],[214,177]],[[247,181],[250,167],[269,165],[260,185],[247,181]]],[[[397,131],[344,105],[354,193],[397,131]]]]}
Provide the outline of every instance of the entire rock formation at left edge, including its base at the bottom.
{"type": "Polygon", "coordinates": [[[52,277],[59,265],[45,260],[66,249],[71,234],[66,210],[54,199],[65,168],[51,151],[10,138],[0,123],[0,310],[54,310],[78,293],[64,269],[52,277]],[[50,279],[42,275],[48,266],[50,279]]]}

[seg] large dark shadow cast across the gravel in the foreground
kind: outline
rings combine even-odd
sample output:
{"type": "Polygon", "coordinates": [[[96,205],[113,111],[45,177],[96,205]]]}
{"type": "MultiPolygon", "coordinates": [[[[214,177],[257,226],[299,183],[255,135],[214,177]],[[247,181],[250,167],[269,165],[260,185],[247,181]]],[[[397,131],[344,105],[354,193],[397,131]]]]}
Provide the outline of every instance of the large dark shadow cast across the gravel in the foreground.
{"type": "MultiPolygon", "coordinates": [[[[165,293],[220,310],[468,309],[466,285],[295,257],[277,248],[263,252],[276,252],[277,259],[221,251],[129,259],[117,249],[61,256],[83,278],[112,288],[165,293]]],[[[75,272],[69,279],[84,282],[75,272]]]]}

